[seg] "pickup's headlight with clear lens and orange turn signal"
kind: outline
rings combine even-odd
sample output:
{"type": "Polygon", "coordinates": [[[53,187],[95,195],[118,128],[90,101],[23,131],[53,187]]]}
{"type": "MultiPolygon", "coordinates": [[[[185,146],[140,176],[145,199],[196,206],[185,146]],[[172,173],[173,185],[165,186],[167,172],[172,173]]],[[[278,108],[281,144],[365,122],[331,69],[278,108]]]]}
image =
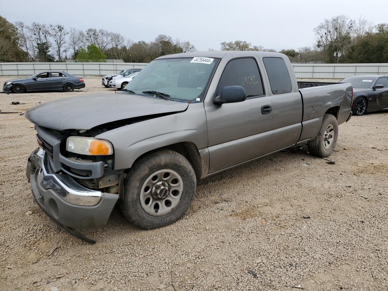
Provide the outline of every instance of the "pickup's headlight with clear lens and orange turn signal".
{"type": "Polygon", "coordinates": [[[85,154],[88,156],[107,156],[113,154],[113,146],[103,139],[92,137],[68,137],[66,140],[66,150],[75,154],[85,154]]]}

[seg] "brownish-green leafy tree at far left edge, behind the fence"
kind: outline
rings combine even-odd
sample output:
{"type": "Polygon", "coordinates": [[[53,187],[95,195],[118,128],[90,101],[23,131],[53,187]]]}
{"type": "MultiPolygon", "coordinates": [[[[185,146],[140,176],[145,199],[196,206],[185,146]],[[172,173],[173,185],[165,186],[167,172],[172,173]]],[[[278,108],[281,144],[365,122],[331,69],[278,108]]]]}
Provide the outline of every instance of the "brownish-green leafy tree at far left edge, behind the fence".
{"type": "Polygon", "coordinates": [[[18,46],[17,28],[0,16],[0,62],[25,62],[27,53],[18,46]]]}

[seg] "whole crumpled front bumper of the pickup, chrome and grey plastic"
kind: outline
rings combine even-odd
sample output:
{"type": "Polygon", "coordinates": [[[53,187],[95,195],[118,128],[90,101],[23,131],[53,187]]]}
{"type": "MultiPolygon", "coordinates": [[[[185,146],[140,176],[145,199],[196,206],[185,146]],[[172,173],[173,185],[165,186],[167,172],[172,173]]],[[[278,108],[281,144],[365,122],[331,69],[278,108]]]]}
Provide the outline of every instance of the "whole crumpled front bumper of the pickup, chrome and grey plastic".
{"type": "Polygon", "coordinates": [[[106,225],[119,197],[83,187],[70,175],[54,173],[42,149],[31,153],[26,175],[43,212],[66,227],[87,229],[106,225]]]}

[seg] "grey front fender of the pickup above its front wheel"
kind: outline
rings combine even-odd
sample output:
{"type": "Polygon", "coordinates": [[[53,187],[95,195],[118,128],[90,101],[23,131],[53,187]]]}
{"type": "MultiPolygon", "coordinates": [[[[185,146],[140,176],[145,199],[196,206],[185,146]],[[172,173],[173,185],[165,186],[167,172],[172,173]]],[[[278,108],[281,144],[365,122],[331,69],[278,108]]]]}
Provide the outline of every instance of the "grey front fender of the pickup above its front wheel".
{"type": "Polygon", "coordinates": [[[143,154],[178,142],[192,142],[200,151],[208,146],[204,106],[192,103],[184,112],[121,126],[96,138],[113,144],[115,170],[131,168],[143,154]]]}

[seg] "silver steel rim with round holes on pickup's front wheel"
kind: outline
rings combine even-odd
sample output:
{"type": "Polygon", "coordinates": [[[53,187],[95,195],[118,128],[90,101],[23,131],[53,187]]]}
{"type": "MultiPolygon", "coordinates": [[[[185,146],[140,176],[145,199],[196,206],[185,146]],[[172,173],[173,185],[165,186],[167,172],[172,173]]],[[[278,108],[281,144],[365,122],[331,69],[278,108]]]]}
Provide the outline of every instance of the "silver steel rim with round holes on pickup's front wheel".
{"type": "Polygon", "coordinates": [[[182,177],[171,169],[158,170],[145,179],[140,189],[140,205],[149,215],[161,216],[170,213],[180,202],[183,191],[182,177]],[[165,183],[164,186],[162,183],[165,183]],[[157,188],[160,187],[159,189],[157,188]],[[155,192],[167,188],[165,197],[158,197],[155,192]]]}

